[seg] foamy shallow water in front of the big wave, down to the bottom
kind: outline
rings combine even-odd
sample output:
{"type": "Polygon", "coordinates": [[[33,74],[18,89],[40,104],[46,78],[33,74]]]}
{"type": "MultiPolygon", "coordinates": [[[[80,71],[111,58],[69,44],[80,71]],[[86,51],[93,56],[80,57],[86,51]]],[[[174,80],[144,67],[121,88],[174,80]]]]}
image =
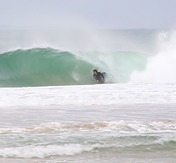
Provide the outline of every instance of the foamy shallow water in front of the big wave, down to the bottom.
{"type": "Polygon", "coordinates": [[[1,88],[0,97],[1,161],[176,160],[175,84],[1,88]]]}

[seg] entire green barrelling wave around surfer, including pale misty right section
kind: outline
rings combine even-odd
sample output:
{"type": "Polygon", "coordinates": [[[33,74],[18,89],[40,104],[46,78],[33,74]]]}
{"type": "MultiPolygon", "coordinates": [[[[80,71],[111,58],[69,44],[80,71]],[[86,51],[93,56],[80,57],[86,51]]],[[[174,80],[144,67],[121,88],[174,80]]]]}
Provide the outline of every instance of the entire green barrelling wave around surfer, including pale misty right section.
{"type": "Polygon", "coordinates": [[[107,73],[107,82],[127,82],[134,70],[145,68],[146,61],[147,55],[136,52],[18,49],[0,54],[0,86],[94,84],[94,68],[107,73]]]}

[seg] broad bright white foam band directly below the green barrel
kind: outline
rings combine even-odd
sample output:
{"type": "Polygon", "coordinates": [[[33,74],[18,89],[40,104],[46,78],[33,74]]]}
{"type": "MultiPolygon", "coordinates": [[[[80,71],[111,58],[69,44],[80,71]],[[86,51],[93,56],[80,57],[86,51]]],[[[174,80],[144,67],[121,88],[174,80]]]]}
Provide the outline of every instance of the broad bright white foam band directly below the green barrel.
{"type": "Polygon", "coordinates": [[[0,88],[0,107],[175,103],[176,84],[0,88]]]}

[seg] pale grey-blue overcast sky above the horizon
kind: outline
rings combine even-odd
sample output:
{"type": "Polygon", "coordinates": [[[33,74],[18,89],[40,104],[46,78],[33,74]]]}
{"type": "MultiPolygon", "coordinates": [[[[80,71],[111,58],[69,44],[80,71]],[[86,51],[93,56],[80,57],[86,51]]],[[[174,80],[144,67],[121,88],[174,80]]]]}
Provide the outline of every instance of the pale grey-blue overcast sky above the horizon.
{"type": "Polygon", "coordinates": [[[3,28],[175,28],[176,0],[0,0],[3,28]]]}

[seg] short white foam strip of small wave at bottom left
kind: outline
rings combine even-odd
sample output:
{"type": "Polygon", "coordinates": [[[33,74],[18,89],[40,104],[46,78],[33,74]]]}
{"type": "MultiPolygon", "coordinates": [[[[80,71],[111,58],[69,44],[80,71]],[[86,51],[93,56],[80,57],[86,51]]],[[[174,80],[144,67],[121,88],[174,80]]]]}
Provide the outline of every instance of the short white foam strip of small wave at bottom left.
{"type": "Polygon", "coordinates": [[[22,146],[0,149],[1,157],[17,158],[45,158],[49,156],[75,155],[90,151],[92,147],[80,144],[48,145],[48,146],[22,146]]]}

